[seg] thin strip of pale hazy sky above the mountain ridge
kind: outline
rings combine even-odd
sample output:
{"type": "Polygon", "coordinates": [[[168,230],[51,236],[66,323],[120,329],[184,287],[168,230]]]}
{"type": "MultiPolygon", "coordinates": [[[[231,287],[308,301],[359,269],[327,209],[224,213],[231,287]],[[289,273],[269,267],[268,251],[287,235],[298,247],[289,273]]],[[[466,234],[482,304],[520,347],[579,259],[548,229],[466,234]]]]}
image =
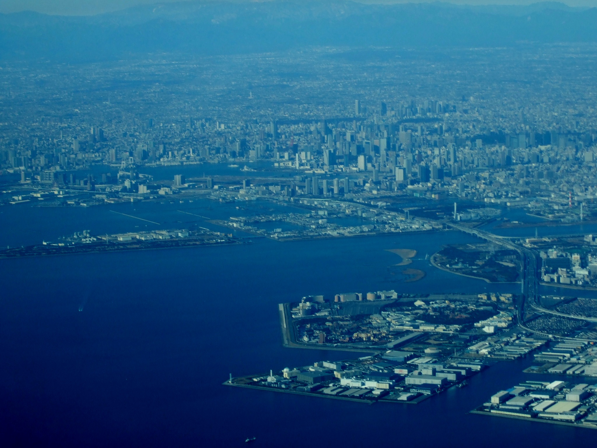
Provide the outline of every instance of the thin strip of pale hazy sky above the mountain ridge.
{"type": "MultiPolygon", "coordinates": [[[[0,13],[14,13],[17,11],[31,10],[47,14],[99,14],[116,11],[139,4],[156,4],[180,0],[0,0],[0,13]]],[[[239,0],[228,0],[239,1],[239,0]]],[[[241,0],[242,1],[242,0],[241,0]]],[[[247,0],[249,1],[249,0],[247,0]]],[[[364,3],[407,3],[413,0],[356,0],[364,3]]],[[[427,2],[429,0],[414,0],[427,2]]],[[[502,5],[528,5],[537,0],[451,0],[457,4],[502,4],[502,5]]],[[[571,6],[597,7],[597,0],[564,0],[562,3],[571,6]]]]}

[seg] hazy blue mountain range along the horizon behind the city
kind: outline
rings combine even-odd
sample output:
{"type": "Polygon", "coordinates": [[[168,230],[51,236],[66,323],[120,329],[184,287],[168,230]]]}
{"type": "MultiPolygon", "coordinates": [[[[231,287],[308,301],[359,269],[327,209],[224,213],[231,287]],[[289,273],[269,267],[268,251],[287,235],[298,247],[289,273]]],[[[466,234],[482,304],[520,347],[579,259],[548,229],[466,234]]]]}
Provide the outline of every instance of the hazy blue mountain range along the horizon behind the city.
{"type": "Polygon", "coordinates": [[[131,54],[230,54],[308,46],[597,42],[597,8],[344,0],[190,1],[97,16],[0,14],[0,58],[78,62],[131,54]]]}

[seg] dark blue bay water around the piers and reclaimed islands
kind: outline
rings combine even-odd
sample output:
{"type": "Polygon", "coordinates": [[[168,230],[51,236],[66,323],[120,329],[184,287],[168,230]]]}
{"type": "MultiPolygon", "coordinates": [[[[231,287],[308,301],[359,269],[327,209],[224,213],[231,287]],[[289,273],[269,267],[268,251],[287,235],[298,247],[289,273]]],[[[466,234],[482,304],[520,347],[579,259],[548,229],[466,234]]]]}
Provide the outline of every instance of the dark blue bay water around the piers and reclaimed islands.
{"type": "MultiPolygon", "coordinates": [[[[210,217],[208,211],[236,210],[214,202],[130,205],[165,227],[180,220],[180,206],[210,217]]],[[[16,207],[1,210],[0,244],[149,224],[110,207],[16,207]]],[[[229,373],[355,356],[282,348],[277,304],[305,294],[518,290],[451,275],[421,259],[441,244],[464,241],[474,239],[457,232],[256,239],[245,246],[0,260],[0,446],[240,447],[248,436],[260,447],[590,446],[596,434],[588,429],[467,414],[498,389],[540,379],[521,372],[528,361],[497,364],[466,388],[416,406],[221,385],[229,373]],[[392,275],[388,268],[398,257],[387,248],[416,249],[409,267],[426,277],[403,283],[392,275]]]]}

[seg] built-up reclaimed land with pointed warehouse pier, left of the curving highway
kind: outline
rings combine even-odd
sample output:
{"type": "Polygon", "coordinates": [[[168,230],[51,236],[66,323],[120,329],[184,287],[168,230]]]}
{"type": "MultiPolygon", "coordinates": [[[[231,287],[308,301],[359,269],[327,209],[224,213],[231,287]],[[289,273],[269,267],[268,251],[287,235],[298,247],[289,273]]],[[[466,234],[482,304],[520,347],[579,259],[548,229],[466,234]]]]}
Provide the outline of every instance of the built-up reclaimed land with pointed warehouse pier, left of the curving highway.
{"type": "Polygon", "coordinates": [[[306,296],[279,304],[285,346],[371,355],[230,376],[224,385],[363,403],[420,403],[466,385],[498,359],[544,345],[545,340],[510,334],[512,308],[512,294],[411,296],[392,290],[336,294],[329,301],[306,296]],[[500,330],[508,336],[495,340],[508,343],[496,344],[494,358],[479,354],[476,344],[500,330]]]}

